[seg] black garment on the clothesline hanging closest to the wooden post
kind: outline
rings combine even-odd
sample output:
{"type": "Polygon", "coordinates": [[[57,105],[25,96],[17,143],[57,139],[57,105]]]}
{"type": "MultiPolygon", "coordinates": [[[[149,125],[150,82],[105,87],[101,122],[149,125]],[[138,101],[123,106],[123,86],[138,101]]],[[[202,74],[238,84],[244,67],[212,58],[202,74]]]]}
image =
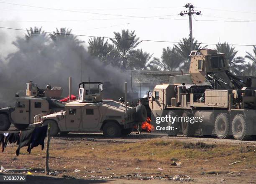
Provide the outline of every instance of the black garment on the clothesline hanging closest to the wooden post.
{"type": "Polygon", "coordinates": [[[44,149],[44,139],[46,137],[46,132],[47,132],[47,125],[44,127],[36,127],[34,129],[34,132],[32,134],[31,138],[31,145],[28,147],[28,152],[31,152],[31,149],[33,147],[37,147],[38,145],[42,146],[42,150],[44,149]]]}

